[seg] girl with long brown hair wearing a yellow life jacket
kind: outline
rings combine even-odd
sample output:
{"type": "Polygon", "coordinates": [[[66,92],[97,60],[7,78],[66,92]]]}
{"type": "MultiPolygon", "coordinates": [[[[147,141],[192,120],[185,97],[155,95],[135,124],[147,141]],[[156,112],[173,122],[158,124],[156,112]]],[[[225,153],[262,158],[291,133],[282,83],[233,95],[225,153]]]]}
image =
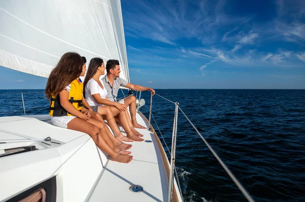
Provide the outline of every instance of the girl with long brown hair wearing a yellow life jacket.
{"type": "MultiPolygon", "coordinates": [[[[50,101],[49,114],[55,126],[77,130],[89,134],[96,145],[105,151],[113,161],[129,163],[130,152],[113,145],[105,129],[105,123],[91,118],[88,105],[83,98],[83,83],[79,76],[84,76],[85,64],[78,53],[67,52],[51,71],[45,93],[50,101]]],[[[92,110],[92,109],[91,109],[92,110]]]]}

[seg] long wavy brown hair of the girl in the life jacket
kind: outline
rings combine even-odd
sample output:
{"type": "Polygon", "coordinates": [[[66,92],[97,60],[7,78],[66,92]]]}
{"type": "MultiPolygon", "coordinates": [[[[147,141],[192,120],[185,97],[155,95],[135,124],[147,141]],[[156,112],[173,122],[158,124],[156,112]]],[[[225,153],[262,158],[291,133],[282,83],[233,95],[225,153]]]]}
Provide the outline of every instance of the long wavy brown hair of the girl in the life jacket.
{"type": "Polygon", "coordinates": [[[47,98],[57,96],[60,91],[80,76],[84,62],[76,52],[67,52],[59,60],[51,71],[47,81],[45,94],[47,98]]]}

